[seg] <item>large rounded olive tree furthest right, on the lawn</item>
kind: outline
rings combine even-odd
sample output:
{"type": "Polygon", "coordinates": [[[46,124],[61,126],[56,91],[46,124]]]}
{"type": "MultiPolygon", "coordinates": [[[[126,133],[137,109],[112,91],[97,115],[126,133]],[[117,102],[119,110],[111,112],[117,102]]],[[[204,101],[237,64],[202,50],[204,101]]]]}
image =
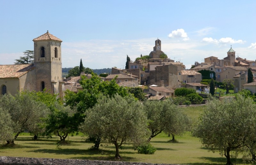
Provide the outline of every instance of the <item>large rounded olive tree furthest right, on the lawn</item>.
{"type": "Polygon", "coordinates": [[[211,151],[224,154],[230,165],[230,151],[243,151],[256,138],[255,109],[252,99],[241,95],[236,99],[210,100],[192,134],[211,151]]]}

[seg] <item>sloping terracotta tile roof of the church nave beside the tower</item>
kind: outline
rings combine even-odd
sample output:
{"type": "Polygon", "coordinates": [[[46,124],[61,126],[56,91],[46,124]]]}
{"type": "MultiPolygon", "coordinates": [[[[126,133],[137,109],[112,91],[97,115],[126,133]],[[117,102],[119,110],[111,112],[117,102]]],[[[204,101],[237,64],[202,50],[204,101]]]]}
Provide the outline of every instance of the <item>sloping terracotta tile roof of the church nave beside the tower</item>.
{"type": "Polygon", "coordinates": [[[33,64],[0,65],[0,78],[19,78],[34,68],[33,64]]]}

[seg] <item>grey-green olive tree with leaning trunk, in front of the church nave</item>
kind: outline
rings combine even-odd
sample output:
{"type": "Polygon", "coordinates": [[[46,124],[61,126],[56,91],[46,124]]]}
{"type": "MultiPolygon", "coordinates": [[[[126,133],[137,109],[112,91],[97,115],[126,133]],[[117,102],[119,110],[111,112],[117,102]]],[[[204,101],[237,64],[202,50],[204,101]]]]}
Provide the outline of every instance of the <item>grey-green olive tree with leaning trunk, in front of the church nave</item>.
{"type": "Polygon", "coordinates": [[[14,143],[19,134],[25,130],[33,132],[37,129],[40,119],[49,112],[49,109],[43,103],[36,101],[34,95],[28,91],[19,92],[14,96],[6,94],[0,97],[0,107],[9,112],[15,133],[14,137],[6,140],[7,144],[14,143]]]}

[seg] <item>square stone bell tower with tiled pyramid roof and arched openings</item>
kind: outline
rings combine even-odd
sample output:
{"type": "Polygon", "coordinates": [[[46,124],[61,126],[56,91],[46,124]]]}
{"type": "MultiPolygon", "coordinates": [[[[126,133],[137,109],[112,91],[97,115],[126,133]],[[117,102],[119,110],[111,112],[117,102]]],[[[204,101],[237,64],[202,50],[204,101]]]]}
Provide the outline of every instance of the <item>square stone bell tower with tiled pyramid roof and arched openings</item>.
{"type": "Polygon", "coordinates": [[[48,31],[33,39],[36,91],[44,89],[62,97],[61,42],[48,31]]]}

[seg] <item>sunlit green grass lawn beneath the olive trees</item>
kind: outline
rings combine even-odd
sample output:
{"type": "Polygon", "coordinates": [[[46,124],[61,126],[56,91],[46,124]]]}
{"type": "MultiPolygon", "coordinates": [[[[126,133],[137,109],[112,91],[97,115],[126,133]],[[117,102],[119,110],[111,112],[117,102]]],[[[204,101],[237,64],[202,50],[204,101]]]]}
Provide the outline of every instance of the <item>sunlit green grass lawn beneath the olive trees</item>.
{"type": "MultiPolygon", "coordinates": [[[[181,110],[193,120],[196,120],[205,106],[185,107],[181,110]]],[[[22,133],[15,141],[15,147],[0,147],[0,156],[15,157],[36,157],[36,158],[59,158],[59,159],[89,159],[108,161],[132,161],[148,163],[168,163],[168,164],[225,164],[226,158],[219,153],[209,152],[202,146],[198,138],[192,137],[191,132],[186,132],[183,136],[178,136],[177,143],[167,142],[170,140],[166,134],[161,133],[151,139],[151,144],[156,147],[155,154],[138,154],[130,144],[122,145],[120,150],[121,160],[116,160],[114,145],[103,144],[100,151],[91,151],[91,142],[85,142],[83,137],[69,137],[69,145],[57,146],[57,137],[52,139],[39,138],[32,140],[28,133],[22,133]]],[[[241,156],[238,157],[237,165],[242,165],[241,156]]],[[[245,163],[246,164],[246,163],[245,163]]],[[[250,163],[247,163],[250,164],[250,163]]]]}

